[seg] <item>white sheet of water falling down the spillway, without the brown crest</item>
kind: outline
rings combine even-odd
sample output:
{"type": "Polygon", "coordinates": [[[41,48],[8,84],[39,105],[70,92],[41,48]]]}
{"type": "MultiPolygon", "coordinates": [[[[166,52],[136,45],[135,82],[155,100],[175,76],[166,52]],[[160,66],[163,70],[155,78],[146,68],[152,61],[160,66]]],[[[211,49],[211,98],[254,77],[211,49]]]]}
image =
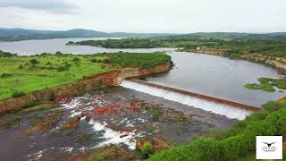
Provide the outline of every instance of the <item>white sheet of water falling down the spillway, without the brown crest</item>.
{"type": "Polygon", "coordinates": [[[147,93],[156,97],[163,97],[168,100],[179,102],[187,106],[194,106],[214,114],[222,114],[230,118],[244,120],[246,116],[252,113],[246,109],[239,107],[217,104],[212,101],[200,99],[198,97],[190,97],[181,93],[173,92],[167,89],[157,89],[145,84],[123,80],[121,86],[127,89],[134,89],[143,93],[147,93]]]}

